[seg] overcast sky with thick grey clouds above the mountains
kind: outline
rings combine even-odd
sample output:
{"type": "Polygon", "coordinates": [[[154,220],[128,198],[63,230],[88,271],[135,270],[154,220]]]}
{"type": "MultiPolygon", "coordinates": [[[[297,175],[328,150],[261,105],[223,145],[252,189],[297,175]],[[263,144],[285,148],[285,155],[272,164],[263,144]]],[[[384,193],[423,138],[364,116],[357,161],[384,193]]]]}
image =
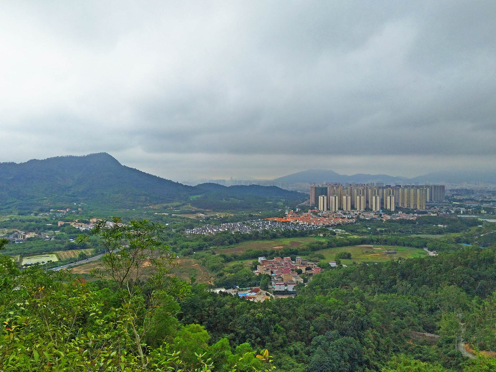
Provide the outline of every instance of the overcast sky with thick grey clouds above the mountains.
{"type": "Polygon", "coordinates": [[[0,161],[496,168],[496,1],[1,1],[0,161]]]}

